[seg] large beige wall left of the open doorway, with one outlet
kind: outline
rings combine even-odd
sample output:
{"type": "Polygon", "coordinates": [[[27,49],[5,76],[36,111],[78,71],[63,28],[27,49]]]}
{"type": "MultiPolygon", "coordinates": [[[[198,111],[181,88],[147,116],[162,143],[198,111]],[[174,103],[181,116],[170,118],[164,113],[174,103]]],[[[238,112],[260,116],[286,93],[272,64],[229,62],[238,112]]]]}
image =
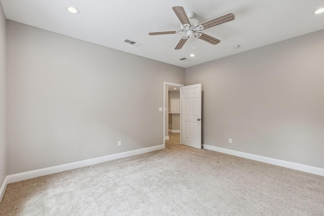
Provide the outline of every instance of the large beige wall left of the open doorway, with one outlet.
{"type": "Polygon", "coordinates": [[[163,82],[183,68],[7,26],[9,174],[163,144],[163,82]]]}

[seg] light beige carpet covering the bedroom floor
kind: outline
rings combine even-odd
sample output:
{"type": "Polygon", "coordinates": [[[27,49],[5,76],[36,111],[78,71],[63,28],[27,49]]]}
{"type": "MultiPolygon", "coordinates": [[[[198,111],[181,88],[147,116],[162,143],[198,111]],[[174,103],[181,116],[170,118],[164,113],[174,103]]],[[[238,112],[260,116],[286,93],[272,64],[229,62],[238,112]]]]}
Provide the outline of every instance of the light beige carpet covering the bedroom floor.
{"type": "Polygon", "coordinates": [[[0,215],[324,215],[324,177],[169,145],[9,184],[0,215]]]}

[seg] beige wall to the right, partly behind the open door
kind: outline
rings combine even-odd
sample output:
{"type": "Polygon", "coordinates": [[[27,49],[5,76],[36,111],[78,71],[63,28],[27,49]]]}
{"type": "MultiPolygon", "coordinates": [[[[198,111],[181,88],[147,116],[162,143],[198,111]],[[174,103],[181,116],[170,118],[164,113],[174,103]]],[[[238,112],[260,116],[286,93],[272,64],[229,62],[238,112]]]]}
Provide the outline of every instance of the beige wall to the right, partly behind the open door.
{"type": "Polygon", "coordinates": [[[186,68],[204,144],[324,168],[323,47],[321,30],[186,68]]]}

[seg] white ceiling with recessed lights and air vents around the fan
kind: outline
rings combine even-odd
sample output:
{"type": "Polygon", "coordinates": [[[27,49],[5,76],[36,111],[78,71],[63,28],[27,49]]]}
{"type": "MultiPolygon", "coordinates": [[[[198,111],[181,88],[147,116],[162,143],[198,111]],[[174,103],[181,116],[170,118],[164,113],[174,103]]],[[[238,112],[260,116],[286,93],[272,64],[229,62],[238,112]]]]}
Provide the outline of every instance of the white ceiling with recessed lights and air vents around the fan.
{"type": "Polygon", "coordinates": [[[161,62],[190,67],[225,56],[255,49],[277,41],[324,29],[324,7],[317,0],[1,0],[7,19],[86,40],[116,50],[161,62]],[[66,6],[80,13],[70,14],[66,6]],[[189,38],[174,50],[180,34],[148,35],[148,32],[179,30],[172,7],[196,13],[199,22],[233,13],[235,20],[204,30],[221,40],[218,45],[189,38]],[[130,39],[140,47],[123,42],[130,39]],[[240,45],[239,49],[232,49],[240,45]],[[195,57],[190,57],[191,53],[195,57]],[[192,59],[183,62],[179,59],[192,59]]]}

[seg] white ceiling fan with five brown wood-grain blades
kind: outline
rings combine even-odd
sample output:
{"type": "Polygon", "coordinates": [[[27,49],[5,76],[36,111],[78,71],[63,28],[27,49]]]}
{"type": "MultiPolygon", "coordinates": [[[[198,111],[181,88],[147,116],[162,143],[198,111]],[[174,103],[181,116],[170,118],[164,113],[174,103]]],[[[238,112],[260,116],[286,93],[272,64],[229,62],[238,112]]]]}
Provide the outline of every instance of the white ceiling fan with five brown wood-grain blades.
{"type": "Polygon", "coordinates": [[[158,31],[158,32],[150,32],[149,35],[160,35],[160,34],[180,34],[180,33],[186,33],[185,36],[183,36],[178,45],[176,46],[175,50],[180,50],[187,39],[194,35],[195,37],[205,40],[206,42],[209,42],[212,45],[217,45],[220,40],[216,39],[215,37],[212,37],[208,34],[204,34],[200,31],[214,27],[216,25],[223,24],[225,22],[229,22],[235,19],[234,14],[229,13],[225,14],[223,16],[217,17],[215,19],[203,22],[199,24],[199,21],[196,19],[193,19],[195,13],[188,12],[186,13],[181,6],[175,6],[172,7],[174,13],[177,15],[178,19],[181,23],[181,28],[178,31],[158,31]]]}

